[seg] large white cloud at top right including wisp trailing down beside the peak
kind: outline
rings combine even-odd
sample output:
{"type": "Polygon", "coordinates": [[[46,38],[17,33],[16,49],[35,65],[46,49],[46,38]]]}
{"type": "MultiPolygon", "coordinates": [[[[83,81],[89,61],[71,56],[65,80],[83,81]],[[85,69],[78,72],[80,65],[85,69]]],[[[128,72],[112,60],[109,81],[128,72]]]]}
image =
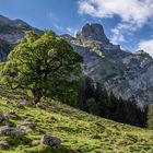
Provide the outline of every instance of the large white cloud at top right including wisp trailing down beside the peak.
{"type": "Polygon", "coordinates": [[[125,32],[141,28],[153,17],[153,0],[80,0],[79,13],[107,19],[118,15],[121,22],[111,30],[114,43],[125,42],[125,32]]]}

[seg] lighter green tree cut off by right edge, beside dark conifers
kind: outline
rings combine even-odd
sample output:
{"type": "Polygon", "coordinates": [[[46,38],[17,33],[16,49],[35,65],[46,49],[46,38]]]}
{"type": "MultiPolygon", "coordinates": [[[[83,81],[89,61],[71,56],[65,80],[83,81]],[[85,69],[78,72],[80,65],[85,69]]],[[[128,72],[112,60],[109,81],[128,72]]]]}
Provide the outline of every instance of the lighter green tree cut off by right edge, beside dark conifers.
{"type": "Polygon", "coordinates": [[[153,129],[153,105],[149,106],[148,126],[149,126],[149,129],[153,129]]]}

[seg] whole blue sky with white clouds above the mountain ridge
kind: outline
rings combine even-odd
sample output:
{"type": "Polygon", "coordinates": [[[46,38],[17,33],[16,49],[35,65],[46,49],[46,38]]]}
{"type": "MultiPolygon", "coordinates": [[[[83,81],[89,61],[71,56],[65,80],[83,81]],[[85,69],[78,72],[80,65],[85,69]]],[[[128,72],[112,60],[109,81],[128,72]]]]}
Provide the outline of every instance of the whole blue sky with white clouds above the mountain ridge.
{"type": "Polygon", "coordinates": [[[113,43],[153,56],[152,10],[152,0],[0,0],[0,14],[10,19],[57,34],[74,34],[86,22],[97,22],[113,43]]]}

